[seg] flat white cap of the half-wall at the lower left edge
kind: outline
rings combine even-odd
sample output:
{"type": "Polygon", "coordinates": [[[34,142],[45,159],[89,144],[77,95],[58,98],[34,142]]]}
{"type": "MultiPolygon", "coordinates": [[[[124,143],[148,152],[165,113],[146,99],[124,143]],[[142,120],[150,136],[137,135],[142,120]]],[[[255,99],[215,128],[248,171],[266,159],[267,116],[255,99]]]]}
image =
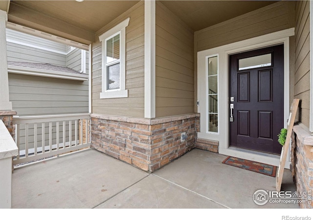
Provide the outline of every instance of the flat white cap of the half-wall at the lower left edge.
{"type": "Polygon", "coordinates": [[[18,147],[11,134],[0,120],[0,159],[13,157],[18,154],[18,147]]]}

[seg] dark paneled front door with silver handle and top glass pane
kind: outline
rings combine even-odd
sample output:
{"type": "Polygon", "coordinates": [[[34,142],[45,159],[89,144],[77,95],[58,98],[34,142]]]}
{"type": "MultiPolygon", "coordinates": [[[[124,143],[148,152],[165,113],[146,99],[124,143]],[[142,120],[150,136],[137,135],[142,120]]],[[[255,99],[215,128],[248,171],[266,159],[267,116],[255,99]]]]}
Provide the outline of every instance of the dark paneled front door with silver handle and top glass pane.
{"type": "Polygon", "coordinates": [[[284,46],[231,55],[229,62],[230,146],[280,154],[277,134],[284,126],[284,46]]]}

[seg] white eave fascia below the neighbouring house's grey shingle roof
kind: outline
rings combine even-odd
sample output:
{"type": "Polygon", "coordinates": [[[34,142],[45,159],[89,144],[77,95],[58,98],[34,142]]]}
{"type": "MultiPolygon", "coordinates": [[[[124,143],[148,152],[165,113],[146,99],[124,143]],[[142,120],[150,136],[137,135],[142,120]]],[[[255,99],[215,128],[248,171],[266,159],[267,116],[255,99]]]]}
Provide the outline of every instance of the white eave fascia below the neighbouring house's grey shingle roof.
{"type": "Polygon", "coordinates": [[[44,77],[51,77],[51,78],[80,80],[80,81],[85,81],[85,80],[88,80],[89,78],[89,75],[87,74],[58,72],[58,71],[34,69],[34,68],[11,66],[11,65],[8,65],[8,72],[24,74],[24,75],[44,76],[44,77]]]}

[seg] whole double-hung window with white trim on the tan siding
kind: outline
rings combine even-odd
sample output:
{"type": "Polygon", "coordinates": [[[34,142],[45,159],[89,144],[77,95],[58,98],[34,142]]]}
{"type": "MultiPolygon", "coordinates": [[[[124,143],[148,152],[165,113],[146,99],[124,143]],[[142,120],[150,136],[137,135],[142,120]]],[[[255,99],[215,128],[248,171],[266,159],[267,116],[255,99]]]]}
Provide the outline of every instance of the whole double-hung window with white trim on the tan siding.
{"type": "Polygon", "coordinates": [[[130,18],[99,36],[102,42],[100,98],[128,97],[126,89],[126,27],[130,18]]]}

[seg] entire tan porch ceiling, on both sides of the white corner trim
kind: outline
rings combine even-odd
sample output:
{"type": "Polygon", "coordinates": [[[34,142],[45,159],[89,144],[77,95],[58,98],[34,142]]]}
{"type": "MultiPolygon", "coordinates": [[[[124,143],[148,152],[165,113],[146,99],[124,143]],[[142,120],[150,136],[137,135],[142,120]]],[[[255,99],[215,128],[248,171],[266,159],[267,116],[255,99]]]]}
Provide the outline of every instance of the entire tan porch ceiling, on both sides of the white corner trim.
{"type": "MultiPolygon", "coordinates": [[[[82,44],[134,6],[138,0],[11,0],[1,1],[8,21],[82,44]]],[[[161,0],[194,31],[226,21],[276,1],[265,0],[161,0]]]]}

